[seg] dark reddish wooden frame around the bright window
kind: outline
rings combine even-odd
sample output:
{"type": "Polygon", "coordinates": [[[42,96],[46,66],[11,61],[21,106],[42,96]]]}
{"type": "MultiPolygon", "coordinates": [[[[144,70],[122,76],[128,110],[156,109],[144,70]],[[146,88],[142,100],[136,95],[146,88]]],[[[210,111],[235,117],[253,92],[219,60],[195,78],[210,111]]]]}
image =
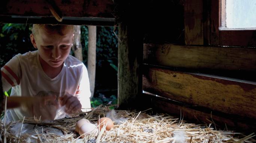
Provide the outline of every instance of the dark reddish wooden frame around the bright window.
{"type": "MultiPolygon", "coordinates": [[[[208,2],[208,1],[205,1],[208,2]]],[[[221,11],[225,10],[225,0],[211,0],[210,4],[205,7],[210,9],[210,36],[208,44],[221,46],[236,46],[236,47],[256,47],[256,30],[255,29],[225,29],[222,30],[222,25],[225,24],[224,16],[221,11]],[[216,15],[216,13],[218,13],[216,15]]]]}

